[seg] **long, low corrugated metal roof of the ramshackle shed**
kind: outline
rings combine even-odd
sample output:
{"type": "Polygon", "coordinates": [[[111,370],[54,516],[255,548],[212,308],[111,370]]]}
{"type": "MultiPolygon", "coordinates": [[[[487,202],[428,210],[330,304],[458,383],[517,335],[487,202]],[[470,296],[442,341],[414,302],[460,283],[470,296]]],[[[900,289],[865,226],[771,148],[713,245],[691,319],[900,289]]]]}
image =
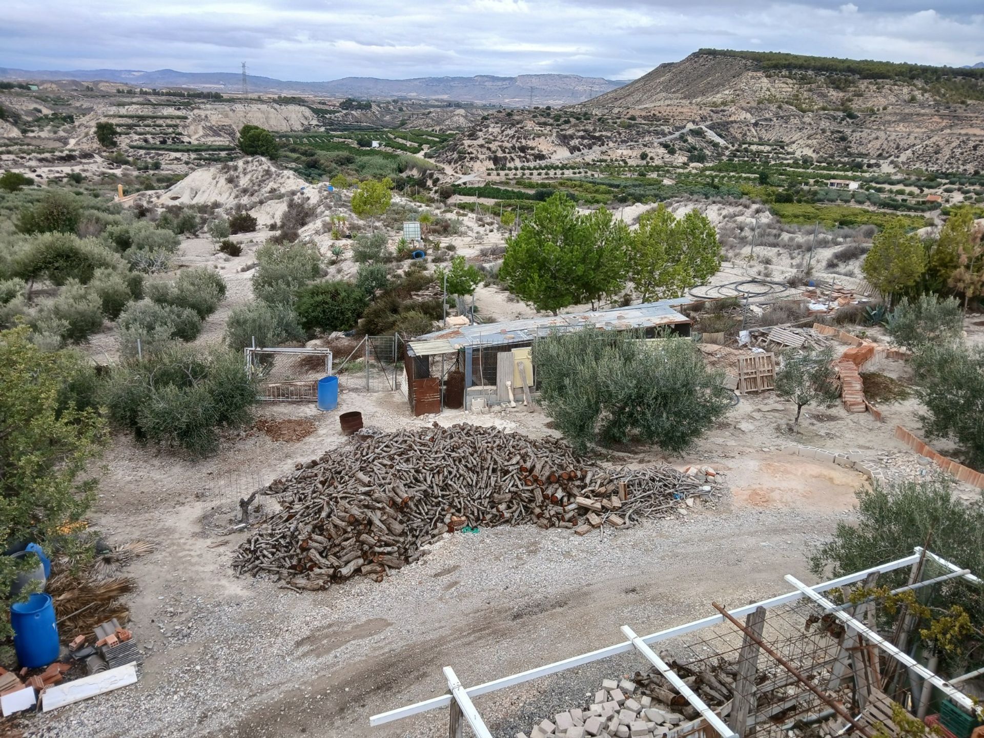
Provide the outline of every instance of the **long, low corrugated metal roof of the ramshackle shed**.
{"type": "Polygon", "coordinates": [[[447,353],[466,346],[495,345],[498,343],[523,343],[534,338],[547,336],[552,331],[577,331],[584,326],[593,326],[599,331],[630,331],[633,329],[658,328],[681,323],[691,323],[691,320],[673,309],[673,305],[683,305],[690,302],[686,297],[675,300],[648,302],[642,305],[632,305],[625,308],[609,310],[594,310],[586,313],[568,313],[566,315],[547,316],[543,318],[520,318],[502,323],[484,323],[474,326],[451,328],[444,331],[421,336],[408,345],[417,356],[416,344],[427,344],[443,341],[450,346],[434,353],[447,353]]]}

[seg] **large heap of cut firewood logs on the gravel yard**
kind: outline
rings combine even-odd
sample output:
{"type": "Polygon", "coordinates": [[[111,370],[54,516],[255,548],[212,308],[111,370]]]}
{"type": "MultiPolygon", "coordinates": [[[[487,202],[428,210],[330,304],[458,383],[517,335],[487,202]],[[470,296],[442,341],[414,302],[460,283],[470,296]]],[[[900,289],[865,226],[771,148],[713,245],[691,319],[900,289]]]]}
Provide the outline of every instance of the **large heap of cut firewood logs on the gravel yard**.
{"type": "Polygon", "coordinates": [[[377,582],[465,526],[535,523],[584,534],[672,515],[716,490],[672,466],[603,469],[558,439],[461,424],[360,433],[266,490],[281,510],[236,551],[240,574],[297,589],[377,582]]]}

